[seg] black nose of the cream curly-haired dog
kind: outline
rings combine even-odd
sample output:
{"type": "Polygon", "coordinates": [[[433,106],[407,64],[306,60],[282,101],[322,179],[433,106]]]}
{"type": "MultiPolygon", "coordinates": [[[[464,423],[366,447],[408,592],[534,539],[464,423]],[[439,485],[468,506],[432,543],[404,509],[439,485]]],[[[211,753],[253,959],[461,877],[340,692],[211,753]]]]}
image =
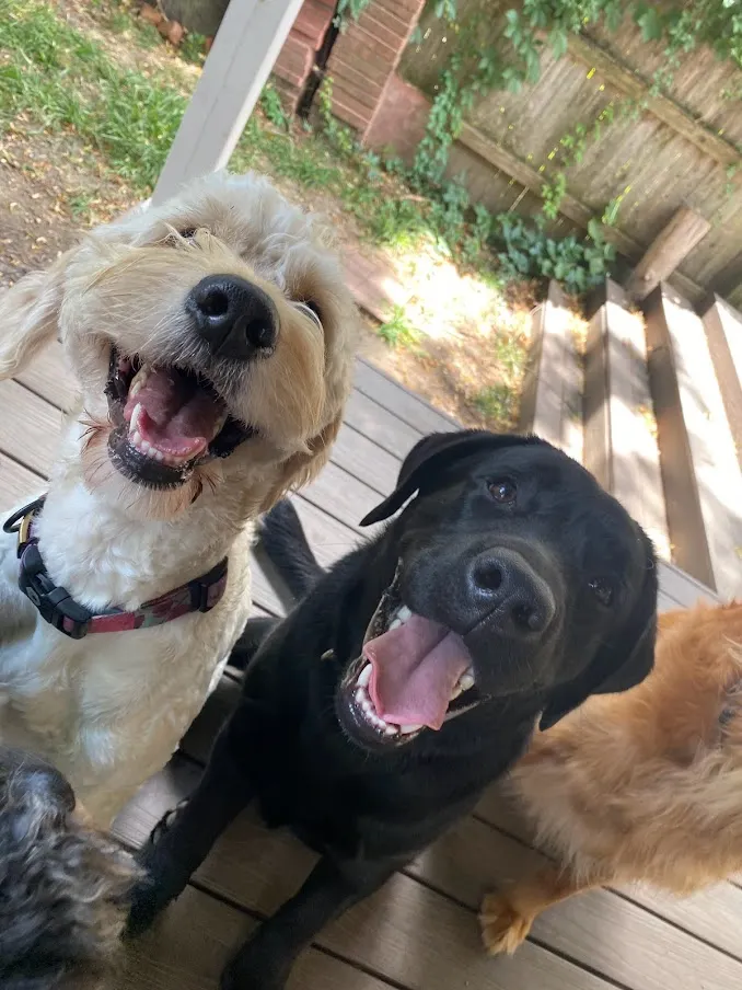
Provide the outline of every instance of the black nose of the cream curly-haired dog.
{"type": "Polygon", "coordinates": [[[247,361],[269,354],[278,313],[267,292],[236,275],[209,275],[190,290],[186,311],[215,357],[247,361]]]}

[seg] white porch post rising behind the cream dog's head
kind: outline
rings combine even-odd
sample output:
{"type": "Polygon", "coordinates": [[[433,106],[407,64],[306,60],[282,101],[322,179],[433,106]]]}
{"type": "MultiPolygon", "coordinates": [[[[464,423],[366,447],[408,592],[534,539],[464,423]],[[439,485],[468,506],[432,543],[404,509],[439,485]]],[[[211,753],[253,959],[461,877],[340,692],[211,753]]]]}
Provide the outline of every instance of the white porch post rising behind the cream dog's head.
{"type": "Polygon", "coordinates": [[[223,168],[244,130],[302,0],[231,0],[152,194],[223,168]]]}

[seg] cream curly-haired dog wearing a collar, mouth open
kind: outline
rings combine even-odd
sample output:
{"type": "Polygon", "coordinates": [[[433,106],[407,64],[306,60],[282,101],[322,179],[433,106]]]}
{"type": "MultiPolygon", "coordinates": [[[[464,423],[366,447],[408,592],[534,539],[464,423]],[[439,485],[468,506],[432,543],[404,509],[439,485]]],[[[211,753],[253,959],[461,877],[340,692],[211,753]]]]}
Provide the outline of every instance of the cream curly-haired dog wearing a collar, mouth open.
{"type": "Polygon", "coordinates": [[[101,228],[0,299],[0,377],[58,335],[80,385],[36,519],[48,579],[95,615],[136,617],[71,638],[19,590],[1,537],[0,741],[51,760],[96,825],[216,682],[250,610],[252,520],[325,463],[355,327],[316,225],[256,175],[101,228]],[[224,559],[209,611],[158,601],[224,559]]]}

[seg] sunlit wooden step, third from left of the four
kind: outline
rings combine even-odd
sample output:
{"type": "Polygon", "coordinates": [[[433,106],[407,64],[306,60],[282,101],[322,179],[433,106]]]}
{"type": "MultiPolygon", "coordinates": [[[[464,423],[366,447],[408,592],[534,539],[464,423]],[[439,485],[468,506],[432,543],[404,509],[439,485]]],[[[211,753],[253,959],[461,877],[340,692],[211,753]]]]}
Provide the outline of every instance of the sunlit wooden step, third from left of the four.
{"type": "Polygon", "coordinates": [[[742,594],[742,472],[700,318],[666,284],[645,304],[673,560],[722,598],[742,594]]]}

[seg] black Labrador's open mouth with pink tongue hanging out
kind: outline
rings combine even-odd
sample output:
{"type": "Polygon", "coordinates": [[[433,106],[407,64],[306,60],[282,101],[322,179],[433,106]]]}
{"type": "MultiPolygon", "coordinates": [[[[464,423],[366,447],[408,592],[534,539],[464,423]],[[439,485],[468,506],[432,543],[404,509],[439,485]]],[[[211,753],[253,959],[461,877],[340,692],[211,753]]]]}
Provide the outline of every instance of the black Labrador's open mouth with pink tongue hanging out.
{"type": "Polygon", "coordinates": [[[403,603],[398,574],[338,692],[343,724],[367,743],[408,743],[480,701],[464,641],[403,603]]]}

